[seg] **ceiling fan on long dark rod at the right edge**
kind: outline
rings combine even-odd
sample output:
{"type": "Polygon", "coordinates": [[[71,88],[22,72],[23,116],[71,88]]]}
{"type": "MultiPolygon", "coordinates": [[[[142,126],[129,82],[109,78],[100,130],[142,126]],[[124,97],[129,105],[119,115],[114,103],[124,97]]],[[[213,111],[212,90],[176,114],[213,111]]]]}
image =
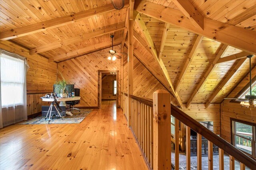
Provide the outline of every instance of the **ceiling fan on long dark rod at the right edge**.
{"type": "Polygon", "coordinates": [[[256,107],[256,95],[252,95],[252,68],[251,68],[251,58],[254,55],[248,55],[247,58],[250,59],[250,95],[245,95],[245,98],[224,98],[227,100],[236,100],[241,102],[242,107],[249,107],[250,105],[256,107]]]}

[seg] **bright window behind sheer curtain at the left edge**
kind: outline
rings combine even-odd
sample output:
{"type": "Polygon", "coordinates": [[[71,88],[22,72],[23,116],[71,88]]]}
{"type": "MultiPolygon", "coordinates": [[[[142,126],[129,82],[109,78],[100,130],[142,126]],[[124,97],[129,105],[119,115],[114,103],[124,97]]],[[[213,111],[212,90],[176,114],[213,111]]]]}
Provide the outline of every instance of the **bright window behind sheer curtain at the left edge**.
{"type": "Polygon", "coordinates": [[[2,107],[24,104],[25,61],[1,54],[1,97],[2,107]]]}

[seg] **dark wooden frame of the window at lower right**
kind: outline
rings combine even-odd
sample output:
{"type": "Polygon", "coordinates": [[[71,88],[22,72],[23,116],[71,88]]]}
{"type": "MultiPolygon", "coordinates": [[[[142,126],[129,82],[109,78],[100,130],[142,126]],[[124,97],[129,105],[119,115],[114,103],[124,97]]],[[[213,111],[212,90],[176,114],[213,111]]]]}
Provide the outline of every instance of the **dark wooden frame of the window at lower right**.
{"type": "MultiPolygon", "coordinates": [[[[231,144],[234,147],[236,147],[237,149],[239,149],[242,152],[244,152],[245,154],[247,154],[248,156],[255,159],[256,158],[256,123],[230,118],[230,130],[231,130],[231,135],[230,135],[231,136],[231,144]],[[250,154],[248,152],[245,152],[245,151],[243,151],[243,150],[241,150],[241,149],[239,149],[235,146],[236,145],[236,136],[242,137],[242,136],[235,133],[236,132],[236,122],[252,126],[252,139],[251,139],[251,141],[252,141],[252,143],[251,143],[252,154],[250,154]]],[[[242,138],[248,139],[246,137],[242,137],[242,138]]],[[[248,139],[248,140],[250,140],[250,139],[248,139]]]]}

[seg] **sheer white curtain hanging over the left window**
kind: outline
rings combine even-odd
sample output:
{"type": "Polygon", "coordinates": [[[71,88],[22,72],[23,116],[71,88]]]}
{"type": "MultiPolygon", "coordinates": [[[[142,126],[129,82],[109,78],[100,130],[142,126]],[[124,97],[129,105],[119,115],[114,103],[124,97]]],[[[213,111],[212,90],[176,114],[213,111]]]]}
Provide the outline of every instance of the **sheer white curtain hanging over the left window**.
{"type": "Polygon", "coordinates": [[[26,58],[0,50],[0,128],[27,119],[26,58]]]}

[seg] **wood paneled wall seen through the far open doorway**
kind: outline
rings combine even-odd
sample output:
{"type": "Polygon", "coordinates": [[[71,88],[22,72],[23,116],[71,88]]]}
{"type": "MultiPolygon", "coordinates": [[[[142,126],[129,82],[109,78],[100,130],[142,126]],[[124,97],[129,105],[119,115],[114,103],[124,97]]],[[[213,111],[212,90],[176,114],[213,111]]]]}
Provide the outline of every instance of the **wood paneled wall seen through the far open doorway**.
{"type": "Polygon", "coordinates": [[[103,100],[115,100],[116,95],[113,95],[113,88],[114,88],[114,80],[116,80],[116,75],[105,75],[106,78],[102,78],[102,92],[101,92],[101,99],[103,100]]]}

